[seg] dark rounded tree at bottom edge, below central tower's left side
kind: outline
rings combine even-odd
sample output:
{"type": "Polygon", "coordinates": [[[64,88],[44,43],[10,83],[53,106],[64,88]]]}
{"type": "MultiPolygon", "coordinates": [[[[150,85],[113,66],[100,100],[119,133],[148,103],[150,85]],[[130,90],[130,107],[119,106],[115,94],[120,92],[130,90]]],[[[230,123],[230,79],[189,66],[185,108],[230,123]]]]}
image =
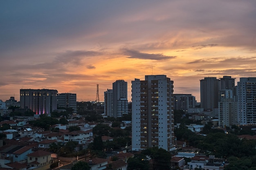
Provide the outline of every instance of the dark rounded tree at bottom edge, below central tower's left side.
{"type": "Polygon", "coordinates": [[[127,160],[127,170],[148,170],[149,161],[144,154],[135,154],[127,160]]]}

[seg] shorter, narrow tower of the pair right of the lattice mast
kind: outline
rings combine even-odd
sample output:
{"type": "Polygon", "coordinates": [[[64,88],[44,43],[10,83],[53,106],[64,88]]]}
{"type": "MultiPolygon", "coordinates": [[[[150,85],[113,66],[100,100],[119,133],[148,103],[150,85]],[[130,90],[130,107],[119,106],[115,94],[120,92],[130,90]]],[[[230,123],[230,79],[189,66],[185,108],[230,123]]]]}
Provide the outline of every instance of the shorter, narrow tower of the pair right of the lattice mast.
{"type": "Polygon", "coordinates": [[[104,113],[105,116],[113,117],[113,90],[108,89],[104,92],[104,113]]]}

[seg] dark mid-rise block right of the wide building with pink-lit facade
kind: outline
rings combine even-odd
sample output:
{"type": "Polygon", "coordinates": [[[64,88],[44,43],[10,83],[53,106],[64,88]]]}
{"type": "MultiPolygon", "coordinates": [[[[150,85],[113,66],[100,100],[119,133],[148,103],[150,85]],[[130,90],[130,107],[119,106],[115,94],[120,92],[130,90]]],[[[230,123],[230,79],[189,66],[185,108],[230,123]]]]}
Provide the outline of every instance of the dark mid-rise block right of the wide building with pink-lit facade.
{"type": "Polygon", "coordinates": [[[76,114],[76,94],[75,93],[58,93],[58,108],[72,108],[73,114],[76,114]]]}

